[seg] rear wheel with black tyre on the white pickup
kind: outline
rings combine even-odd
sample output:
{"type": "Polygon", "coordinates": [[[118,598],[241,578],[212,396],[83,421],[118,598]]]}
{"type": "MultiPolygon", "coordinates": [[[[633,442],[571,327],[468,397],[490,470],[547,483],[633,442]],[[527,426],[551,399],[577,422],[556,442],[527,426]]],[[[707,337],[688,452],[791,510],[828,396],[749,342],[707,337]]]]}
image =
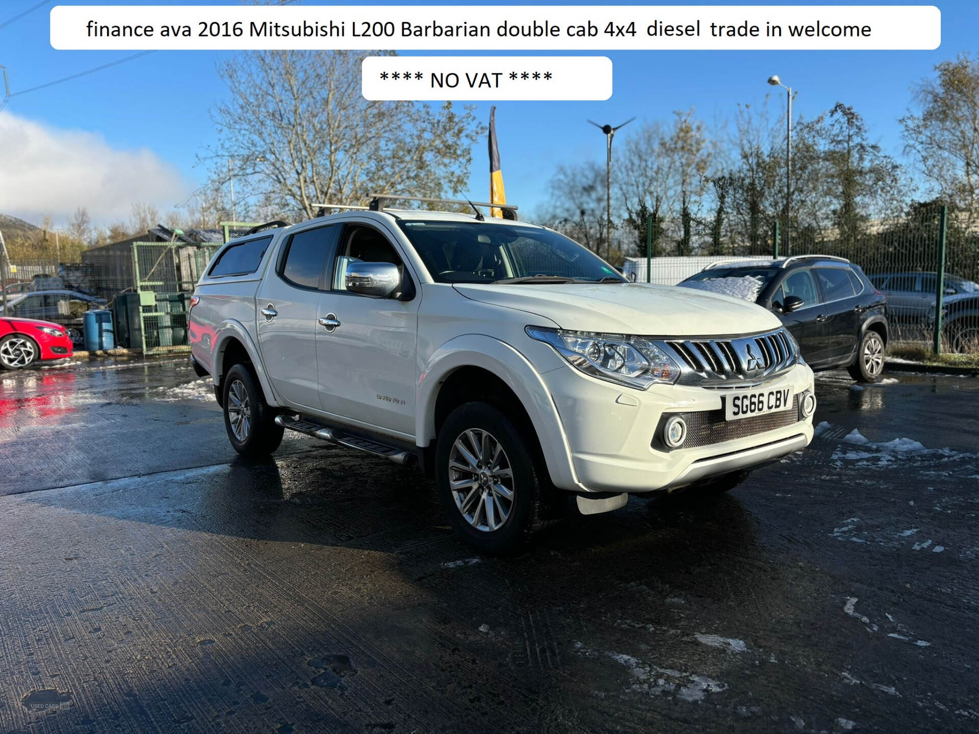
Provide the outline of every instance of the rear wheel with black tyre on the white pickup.
{"type": "Polygon", "coordinates": [[[282,443],[285,429],[265,402],[251,367],[236,364],[224,376],[224,429],[242,456],[267,456],[282,443]]]}

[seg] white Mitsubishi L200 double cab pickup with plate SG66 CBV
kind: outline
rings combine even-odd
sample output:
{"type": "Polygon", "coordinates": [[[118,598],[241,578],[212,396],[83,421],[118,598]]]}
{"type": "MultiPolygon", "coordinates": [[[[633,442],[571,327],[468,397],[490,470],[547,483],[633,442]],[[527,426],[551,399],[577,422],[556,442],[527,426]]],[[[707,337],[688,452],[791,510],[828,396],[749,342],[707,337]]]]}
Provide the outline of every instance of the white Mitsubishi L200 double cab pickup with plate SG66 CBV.
{"type": "Polygon", "coordinates": [[[417,462],[489,554],[569,505],[730,489],[813,437],[813,372],[768,310],[480,213],[376,199],[233,240],[190,341],[239,453],[288,429],[417,462]]]}

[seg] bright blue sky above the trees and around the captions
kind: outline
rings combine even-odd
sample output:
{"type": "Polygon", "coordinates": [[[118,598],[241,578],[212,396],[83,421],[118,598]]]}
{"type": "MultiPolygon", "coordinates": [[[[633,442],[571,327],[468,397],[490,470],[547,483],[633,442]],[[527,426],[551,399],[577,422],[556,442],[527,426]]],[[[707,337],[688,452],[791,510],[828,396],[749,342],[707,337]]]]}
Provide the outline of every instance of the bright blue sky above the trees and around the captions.
{"type": "MultiPolygon", "coordinates": [[[[0,0],[0,23],[36,1],[0,0]]],[[[71,0],[57,2],[74,4],[71,0]]],[[[48,11],[54,4],[0,28],[0,64],[8,69],[12,92],[128,55],[127,52],[52,49],[48,11]]],[[[127,3],[101,0],[101,4],[127,3]]],[[[157,0],[154,4],[192,3],[157,0]]],[[[209,4],[236,3],[211,0],[209,4]]],[[[304,0],[303,4],[321,3],[304,0]]],[[[437,3],[426,0],[426,4],[437,3]]],[[[979,42],[975,40],[979,3],[956,0],[939,3],[938,7],[942,11],[942,44],[936,51],[610,53],[615,68],[615,92],[607,102],[497,103],[500,156],[508,199],[533,210],[546,198],[547,181],[558,163],[603,161],[604,139],[585,122],[586,118],[616,124],[632,115],[640,119],[667,118],[674,110],[692,106],[710,122],[730,119],[737,103],[764,101],[771,90],[766,79],[772,73],[779,74],[798,91],[795,103],[798,114],[816,115],[837,101],[853,105],[864,116],[871,136],[885,150],[899,155],[902,144],[897,118],[909,107],[911,83],[928,75],[944,59],[979,50],[979,42]]],[[[189,191],[204,177],[204,167],[195,167],[196,157],[204,154],[215,139],[210,108],[225,94],[215,72],[218,58],[217,52],[158,51],[112,69],[16,96],[0,114],[0,149],[9,152],[12,145],[18,144],[20,138],[14,142],[2,139],[5,130],[11,135],[11,120],[16,118],[19,124],[33,126],[32,139],[40,141],[37,145],[42,148],[45,145],[52,149],[59,145],[75,150],[84,148],[100,159],[117,157],[115,160],[126,168],[147,163],[149,167],[143,174],[132,171],[130,178],[123,177],[106,197],[117,202],[122,216],[128,211],[128,203],[122,200],[130,192],[146,199],[158,198],[162,207],[167,203],[178,204],[173,201],[178,196],[175,192],[189,191]],[[8,115],[6,127],[2,115],[8,115]],[[69,131],[94,135],[72,135],[69,131]],[[45,142],[49,138],[52,142],[45,142]],[[139,180],[146,175],[160,178],[166,185],[144,191],[139,180]]],[[[776,104],[775,109],[779,109],[781,98],[776,104]]],[[[488,119],[489,104],[479,105],[478,115],[488,119]]],[[[83,176],[88,163],[83,158],[75,163],[78,170],[74,175],[83,176]]],[[[45,166],[51,164],[51,161],[39,163],[36,170],[47,171],[45,166]]],[[[0,176],[9,179],[11,175],[22,175],[24,168],[31,167],[30,161],[22,159],[19,166],[20,170],[0,167],[0,176]]],[[[43,183],[57,175],[57,171],[38,173],[23,185],[43,183]]],[[[480,143],[474,151],[471,198],[488,196],[488,178],[486,147],[480,143]]],[[[7,185],[12,185],[10,180],[7,185]]],[[[93,180],[92,186],[95,185],[93,180]]],[[[57,220],[77,204],[86,204],[67,201],[76,198],[72,192],[77,187],[42,189],[36,196],[32,195],[29,210],[23,201],[14,207],[16,210],[11,210],[0,197],[0,212],[36,219],[39,212],[51,211],[57,220]]],[[[0,194],[3,192],[0,184],[0,194]]],[[[113,216],[111,204],[104,204],[100,210],[104,210],[104,217],[113,216]]]]}

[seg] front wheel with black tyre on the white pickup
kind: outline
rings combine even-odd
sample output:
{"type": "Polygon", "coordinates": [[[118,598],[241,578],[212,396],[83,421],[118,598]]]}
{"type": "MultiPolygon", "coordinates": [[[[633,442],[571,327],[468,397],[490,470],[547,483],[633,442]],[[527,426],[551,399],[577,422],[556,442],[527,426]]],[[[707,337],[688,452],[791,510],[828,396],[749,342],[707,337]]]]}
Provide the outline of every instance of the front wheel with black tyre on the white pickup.
{"type": "Polygon", "coordinates": [[[469,402],[445,419],[436,444],[436,483],[456,534],[490,556],[519,551],[539,528],[553,491],[525,436],[492,405],[469,402]]]}

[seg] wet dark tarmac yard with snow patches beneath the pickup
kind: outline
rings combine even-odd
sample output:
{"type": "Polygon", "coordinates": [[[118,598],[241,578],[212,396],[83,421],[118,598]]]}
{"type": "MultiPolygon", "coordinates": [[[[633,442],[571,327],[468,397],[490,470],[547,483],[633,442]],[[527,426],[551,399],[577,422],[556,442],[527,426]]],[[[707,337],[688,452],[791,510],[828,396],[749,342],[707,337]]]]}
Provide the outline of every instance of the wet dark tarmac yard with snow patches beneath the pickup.
{"type": "Polygon", "coordinates": [[[183,360],[0,374],[0,732],[979,730],[979,381],[845,377],[731,494],[491,560],[414,469],[237,460],[183,360]]]}

